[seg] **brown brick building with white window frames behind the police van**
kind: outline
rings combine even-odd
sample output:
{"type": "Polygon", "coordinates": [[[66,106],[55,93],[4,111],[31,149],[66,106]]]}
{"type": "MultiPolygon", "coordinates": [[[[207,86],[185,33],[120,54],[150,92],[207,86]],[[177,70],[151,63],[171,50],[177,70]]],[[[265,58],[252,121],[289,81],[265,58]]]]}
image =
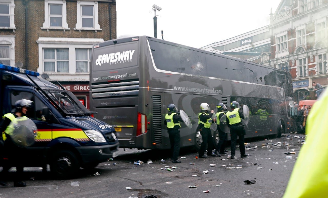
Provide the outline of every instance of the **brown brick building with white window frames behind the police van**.
{"type": "Polygon", "coordinates": [[[115,0],[0,0],[0,63],[60,82],[87,108],[91,47],[115,38],[115,0]]]}

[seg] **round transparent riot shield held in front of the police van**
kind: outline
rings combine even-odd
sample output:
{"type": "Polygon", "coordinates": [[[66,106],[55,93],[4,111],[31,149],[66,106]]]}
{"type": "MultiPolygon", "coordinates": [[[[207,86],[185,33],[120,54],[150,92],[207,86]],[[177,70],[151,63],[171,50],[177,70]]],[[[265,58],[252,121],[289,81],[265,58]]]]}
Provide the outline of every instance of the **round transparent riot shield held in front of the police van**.
{"type": "Polygon", "coordinates": [[[10,137],[19,147],[31,146],[37,136],[37,128],[34,122],[27,117],[17,117],[9,124],[10,137]]]}

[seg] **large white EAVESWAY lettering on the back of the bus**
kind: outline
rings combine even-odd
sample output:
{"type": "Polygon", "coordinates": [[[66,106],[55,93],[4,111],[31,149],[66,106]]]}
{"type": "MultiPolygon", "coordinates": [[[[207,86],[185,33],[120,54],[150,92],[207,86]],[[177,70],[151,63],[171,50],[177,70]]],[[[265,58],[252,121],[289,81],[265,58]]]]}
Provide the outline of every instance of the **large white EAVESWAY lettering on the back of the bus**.
{"type": "Polygon", "coordinates": [[[96,65],[101,65],[104,63],[125,63],[129,62],[132,60],[132,56],[134,53],[133,50],[127,50],[123,52],[115,52],[115,53],[110,53],[110,54],[102,54],[98,56],[98,59],[96,60],[96,65]]]}

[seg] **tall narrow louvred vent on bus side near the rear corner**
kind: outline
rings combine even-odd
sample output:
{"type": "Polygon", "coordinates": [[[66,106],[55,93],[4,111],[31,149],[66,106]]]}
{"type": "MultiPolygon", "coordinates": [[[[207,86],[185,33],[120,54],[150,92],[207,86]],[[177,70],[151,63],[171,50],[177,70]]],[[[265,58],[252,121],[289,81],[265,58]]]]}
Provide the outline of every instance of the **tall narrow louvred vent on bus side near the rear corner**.
{"type": "Polygon", "coordinates": [[[156,144],[162,143],[162,100],[161,96],[153,95],[153,132],[156,144]]]}

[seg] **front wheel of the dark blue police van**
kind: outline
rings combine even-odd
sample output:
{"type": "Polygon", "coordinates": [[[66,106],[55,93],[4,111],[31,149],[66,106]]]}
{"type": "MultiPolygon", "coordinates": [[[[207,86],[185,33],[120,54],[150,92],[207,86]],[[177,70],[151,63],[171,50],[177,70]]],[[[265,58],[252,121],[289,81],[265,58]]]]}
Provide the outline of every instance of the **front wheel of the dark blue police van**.
{"type": "Polygon", "coordinates": [[[54,153],[50,170],[57,178],[71,178],[79,169],[79,161],[72,151],[61,150],[54,153]]]}

